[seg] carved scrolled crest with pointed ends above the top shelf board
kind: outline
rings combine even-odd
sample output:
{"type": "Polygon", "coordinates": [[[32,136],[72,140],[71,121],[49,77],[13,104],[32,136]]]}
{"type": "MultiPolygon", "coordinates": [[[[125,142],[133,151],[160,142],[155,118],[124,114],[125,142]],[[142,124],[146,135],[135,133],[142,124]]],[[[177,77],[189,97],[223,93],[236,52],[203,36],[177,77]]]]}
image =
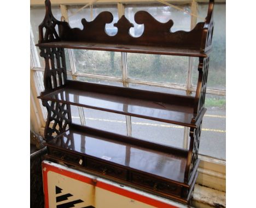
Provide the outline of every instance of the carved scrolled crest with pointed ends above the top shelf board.
{"type": "Polygon", "coordinates": [[[213,0],[210,1],[206,21],[197,23],[195,28],[189,32],[183,30],[171,32],[171,27],[174,25],[172,20],[162,23],[154,19],[147,11],[138,11],[135,14],[135,22],[144,25],[144,31],[139,37],[130,34],[129,31],[133,24],[124,15],[117,23],[114,23],[114,27],[118,29],[117,34],[110,36],[106,33],[106,24],[113,21],[113,15],[109,11],[103,11],[91,22],[82,19],[83,29],[79,29],[71,28],[67,22],[57,21],[51,14],[49,0],[45,4],[45,20],[40,25],[40,27],[47,29],[44,36],[41,35],[40,38],[44,42],[61,40],[91,42],[91,44],[178,47],[201,51],[208,50],[211,47],[213,0]],[[57,36],[55,30],[56,25],[59,27],[59,36],[57,36]]]}

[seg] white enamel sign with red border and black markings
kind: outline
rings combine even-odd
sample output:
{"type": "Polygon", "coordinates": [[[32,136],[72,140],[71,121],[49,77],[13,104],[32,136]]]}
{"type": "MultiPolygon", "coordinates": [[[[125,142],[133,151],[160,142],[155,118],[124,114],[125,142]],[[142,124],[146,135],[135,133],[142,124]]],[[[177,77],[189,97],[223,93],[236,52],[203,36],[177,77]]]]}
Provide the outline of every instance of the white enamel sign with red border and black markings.
{"type": "Polygon", "coordinates": [[[42,169],[45,208],[187,207],[53,162],[42,169]]]}

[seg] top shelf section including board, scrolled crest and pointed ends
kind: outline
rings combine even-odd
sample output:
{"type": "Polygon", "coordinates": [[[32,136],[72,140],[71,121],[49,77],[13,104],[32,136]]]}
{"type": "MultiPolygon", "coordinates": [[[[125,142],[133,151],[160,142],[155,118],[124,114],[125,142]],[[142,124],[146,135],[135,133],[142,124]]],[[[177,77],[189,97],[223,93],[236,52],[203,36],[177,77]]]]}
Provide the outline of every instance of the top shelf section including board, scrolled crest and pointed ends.
{"type": "Polygon", "coordinates": [[[103,11],[91,22],[82,19],[83,29],[71,28],[68,22],[56,20],[51,13],[50,1],[45,1],[46,13],[39,25],[39,47],[76,48],[86,50],[116,51],[130,53],[165,54],[205,58],[211,51],[213,32],[213,0],[210,0],[204,22],[186,32],[171,32],[173,21],[162,23],[147,11],[138,11],[135,22],[144,26],[141,36],[130,34],[133,23],[121,16],[114,27],[115,35],[106,33],[106,25],[113,22],[113,15],[103,11]]]}

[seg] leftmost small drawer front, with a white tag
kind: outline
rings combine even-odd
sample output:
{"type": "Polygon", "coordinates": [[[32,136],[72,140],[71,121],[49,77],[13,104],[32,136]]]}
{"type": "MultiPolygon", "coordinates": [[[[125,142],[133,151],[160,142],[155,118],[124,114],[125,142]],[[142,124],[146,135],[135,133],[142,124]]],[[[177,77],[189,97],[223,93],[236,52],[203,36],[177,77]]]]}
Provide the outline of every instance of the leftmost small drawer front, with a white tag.
{"type": "Polygon", "coordinates": [[[54,157],[60,158],[63,161],[71,162],[73,164],[76,164],[78,166],[84,165],[84,158],[80,155],[75,155],[69,152],[60,151],[55,148],[48,148],[49,155],[52,155],[54,157]]]}

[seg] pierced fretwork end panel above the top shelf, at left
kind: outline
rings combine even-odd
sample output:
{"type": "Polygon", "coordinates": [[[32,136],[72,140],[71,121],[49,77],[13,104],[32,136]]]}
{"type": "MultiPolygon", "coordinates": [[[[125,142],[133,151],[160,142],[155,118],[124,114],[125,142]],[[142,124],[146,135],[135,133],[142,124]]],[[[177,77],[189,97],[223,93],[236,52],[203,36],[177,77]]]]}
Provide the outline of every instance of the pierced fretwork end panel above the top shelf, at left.
{"type": "Polygon", "coordinates": [[[39,25],[39,43],[60,40],[59,29],[57,27],[60,21],[56,20],[51,13],[51,2],[45,1],[45,17],[43,22],[39,25]]]}

